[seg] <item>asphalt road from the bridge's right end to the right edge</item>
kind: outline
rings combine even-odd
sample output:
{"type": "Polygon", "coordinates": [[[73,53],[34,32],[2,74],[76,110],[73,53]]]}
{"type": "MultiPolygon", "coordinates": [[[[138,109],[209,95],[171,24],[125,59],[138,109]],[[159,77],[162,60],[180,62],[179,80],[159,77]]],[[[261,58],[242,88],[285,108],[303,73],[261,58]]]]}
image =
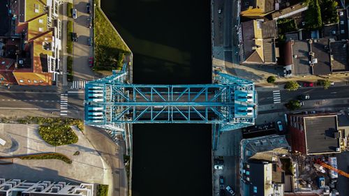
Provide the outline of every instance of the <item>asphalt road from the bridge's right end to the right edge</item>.
{"type": "MultiPolygon", "coordinates": [[[[310,96],[309,100],[324,100],[334,98],[348,98],[349,88],[348,86],[331,86],[329,89],[324,90],[320,87],[301,88],[297,91],[280,91],[281,103],[287,103],[289,100],[297,99],[297,96],[307,94],[310,96]]],[[[273,91],[258,91],[258,104],[267,105],[273,104],[273,91]]]]}

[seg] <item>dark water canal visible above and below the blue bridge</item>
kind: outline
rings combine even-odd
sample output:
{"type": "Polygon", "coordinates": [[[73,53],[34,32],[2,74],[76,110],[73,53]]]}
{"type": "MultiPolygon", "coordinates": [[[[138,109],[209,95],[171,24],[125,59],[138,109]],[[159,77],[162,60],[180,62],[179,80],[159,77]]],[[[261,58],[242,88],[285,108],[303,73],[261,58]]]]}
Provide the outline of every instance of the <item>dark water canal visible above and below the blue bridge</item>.
{"type": "MultiPolygon", "coordinates": [[[[211,83],[209,0],[102,0],[137,84],[211,83]]],[[[133,195],[211,195],[211,126],[133,129],[133,195]]]]}

